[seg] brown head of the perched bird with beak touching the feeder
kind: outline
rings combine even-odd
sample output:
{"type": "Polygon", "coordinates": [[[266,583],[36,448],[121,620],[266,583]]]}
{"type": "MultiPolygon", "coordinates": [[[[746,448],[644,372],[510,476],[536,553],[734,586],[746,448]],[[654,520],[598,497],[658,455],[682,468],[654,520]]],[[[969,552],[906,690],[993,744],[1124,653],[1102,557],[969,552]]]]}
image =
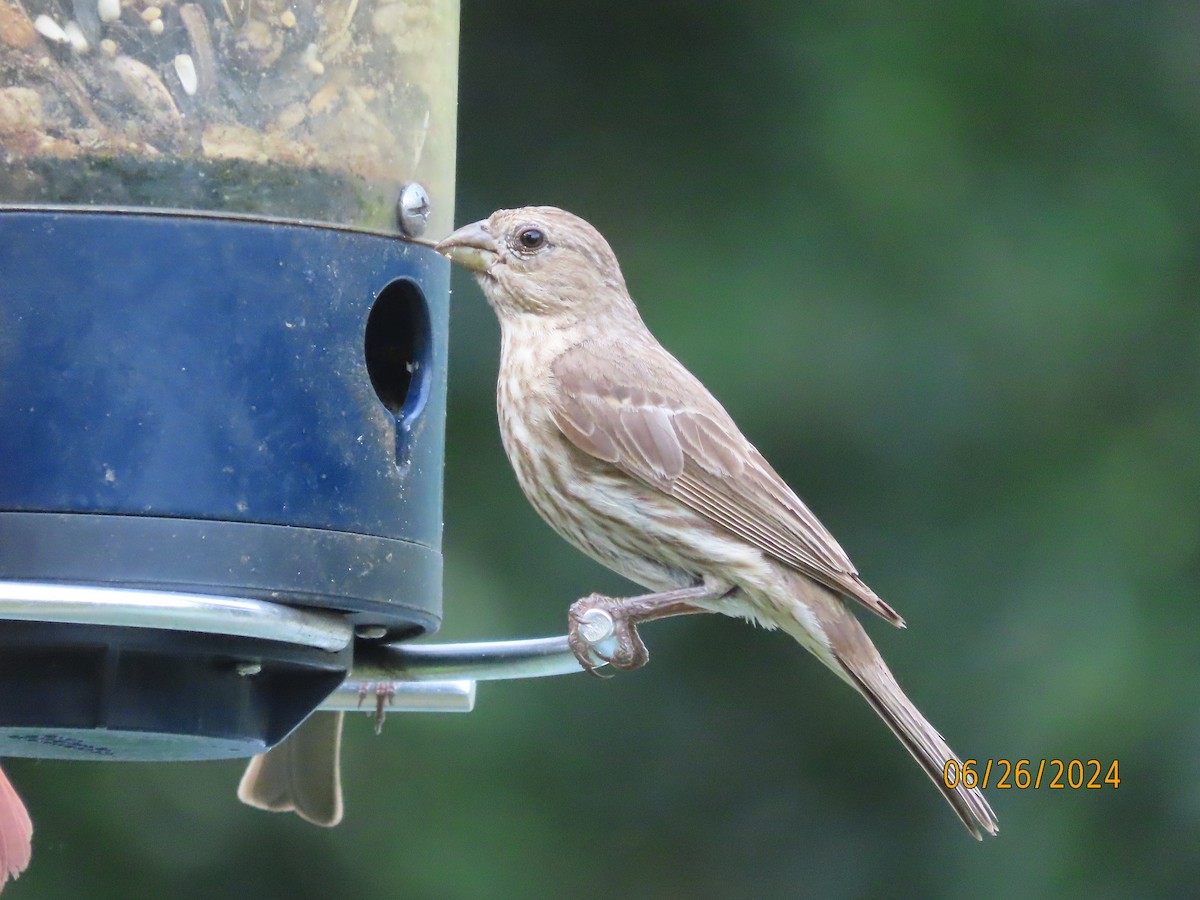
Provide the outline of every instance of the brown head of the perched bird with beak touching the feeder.
{"type": "Polygon", "coordinates": [[[608,242],[554,206],[498,210],[460,228],[437,251],[475,274],[502,322],[523,314],[577,319],[632,307],[608,242]]]}

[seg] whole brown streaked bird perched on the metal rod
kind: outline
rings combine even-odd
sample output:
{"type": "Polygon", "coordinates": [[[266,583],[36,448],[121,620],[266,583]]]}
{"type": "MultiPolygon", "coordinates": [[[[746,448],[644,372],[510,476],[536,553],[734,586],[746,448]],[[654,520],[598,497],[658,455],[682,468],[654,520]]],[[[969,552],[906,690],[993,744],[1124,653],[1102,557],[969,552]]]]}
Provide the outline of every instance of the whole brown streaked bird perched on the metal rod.
{"type": "Polygon", "coordinates": [[[978,790],[946,787],[943,766],[959,757],[850,606],[904,620],[649,332],[600,233],[529,206],[466,226],[437,250],[475,274],[500,320],[497,412],[526,497],[572,545],[653,592],[576,602],[569,636],[581,664],[600,655],[580,634],[595,608],[617,625],[601,658],[618,668],[646,662],[636,626],[652,619],[718,612],[781,629],[866,698],[972,835],[995,834],[978,790]]]}

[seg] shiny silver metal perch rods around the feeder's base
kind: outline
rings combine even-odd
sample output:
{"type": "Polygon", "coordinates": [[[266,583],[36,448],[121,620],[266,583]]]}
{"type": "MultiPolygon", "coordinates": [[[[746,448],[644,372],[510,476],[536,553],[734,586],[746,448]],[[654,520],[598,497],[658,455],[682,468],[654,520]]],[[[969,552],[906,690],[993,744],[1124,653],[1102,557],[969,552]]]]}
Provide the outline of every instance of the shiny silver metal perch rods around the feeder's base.
{"type": "MultiPolygon", "coordinates": [[[[331,612],[246,598],[82,584],[0,581],[2,619],[199,631],[329,652],[354,640],[352,625],[331,612]]],[[[360,641],[349,677],[319,709],[361,709],[365,697],[383,690],[390,712],[469,713],[476,682],[581,671],[565,636],[444,644],[360,641]]]]}

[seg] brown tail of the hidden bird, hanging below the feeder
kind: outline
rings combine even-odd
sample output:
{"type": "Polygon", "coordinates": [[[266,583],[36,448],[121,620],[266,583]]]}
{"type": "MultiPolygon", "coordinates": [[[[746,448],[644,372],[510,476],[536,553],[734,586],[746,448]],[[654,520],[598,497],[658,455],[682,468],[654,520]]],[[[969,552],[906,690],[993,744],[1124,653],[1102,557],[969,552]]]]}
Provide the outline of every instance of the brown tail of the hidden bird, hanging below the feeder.
{"type": "Polygon", "coordinates": [[[250,761],[238,799],[331,828],[342,821],[342,713],[314,713],[250,761]]]}

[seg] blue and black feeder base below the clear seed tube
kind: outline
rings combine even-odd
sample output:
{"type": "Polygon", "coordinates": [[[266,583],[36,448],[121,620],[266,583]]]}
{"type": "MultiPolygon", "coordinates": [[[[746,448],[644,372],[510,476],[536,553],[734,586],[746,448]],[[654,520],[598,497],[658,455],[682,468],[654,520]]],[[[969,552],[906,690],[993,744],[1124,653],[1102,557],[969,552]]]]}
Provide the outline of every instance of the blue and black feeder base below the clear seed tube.
{"type": "MultiPolygon", "coordinates": [[[[0,580],[434,631],[448,294],[444,260],[383,235],[0,211],[0,580]]],[[[0,623],[0,756],[258,752],[350,655],[0,623]]]]}

